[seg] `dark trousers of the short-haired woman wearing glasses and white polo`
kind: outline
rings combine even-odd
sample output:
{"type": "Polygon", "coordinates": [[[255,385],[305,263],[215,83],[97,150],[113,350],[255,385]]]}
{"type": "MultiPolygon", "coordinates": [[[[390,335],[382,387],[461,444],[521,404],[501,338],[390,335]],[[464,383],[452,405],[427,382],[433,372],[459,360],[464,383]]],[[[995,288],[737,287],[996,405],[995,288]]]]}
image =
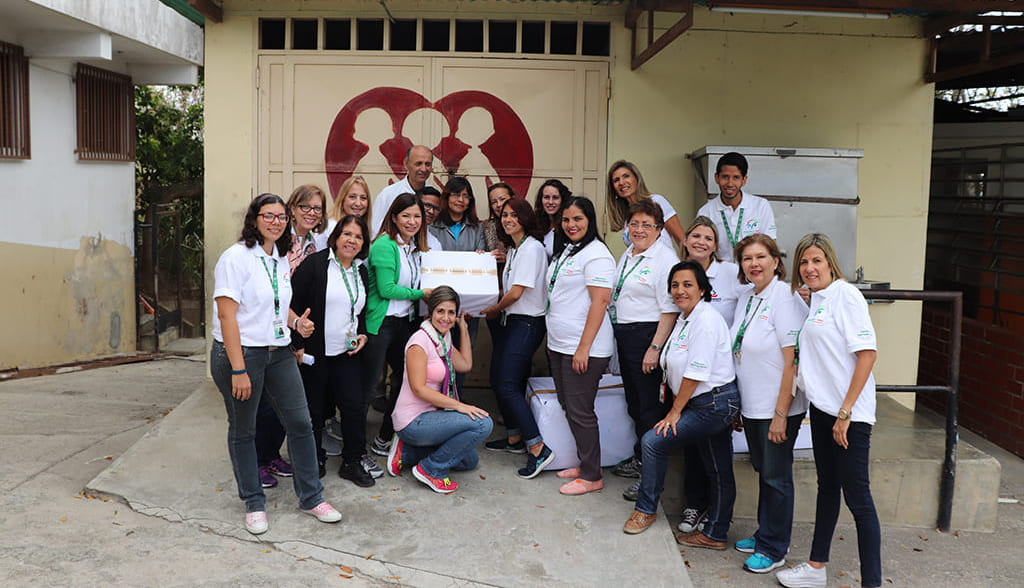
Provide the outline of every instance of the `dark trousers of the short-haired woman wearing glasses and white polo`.
{"type": "Polygon", "coordinates": [[[618,369],[626,389],[626,409],[633,419],[637,443],[633,455],[641,459],[640,439],[654,423],[662,420],[669,407],[658,400],[662,390],[662,368],[651,373],[643,372],[643,356],[657,332],[657,323],[627,323],[615,325],[615,348],[618,351],[618,369]]]}

